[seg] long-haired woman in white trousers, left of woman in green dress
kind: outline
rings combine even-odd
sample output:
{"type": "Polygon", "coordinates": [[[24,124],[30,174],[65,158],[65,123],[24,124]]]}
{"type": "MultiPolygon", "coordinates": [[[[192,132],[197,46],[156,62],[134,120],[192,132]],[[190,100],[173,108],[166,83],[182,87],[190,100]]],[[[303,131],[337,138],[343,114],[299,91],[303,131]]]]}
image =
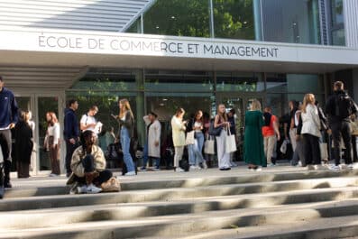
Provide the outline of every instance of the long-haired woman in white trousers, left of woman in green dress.
{"type": "Polygon", "coordinates": [[[214,128],[221,128],[219,136],[216,136],[217,161],[219,164],[219,170],[231,170],[230,152],[225,152],[225,139],[229,127],[230,123],[227,121],[225,105],[220,104],[217,106],[217,115],[215,116],[214,120],[214,128]]]}

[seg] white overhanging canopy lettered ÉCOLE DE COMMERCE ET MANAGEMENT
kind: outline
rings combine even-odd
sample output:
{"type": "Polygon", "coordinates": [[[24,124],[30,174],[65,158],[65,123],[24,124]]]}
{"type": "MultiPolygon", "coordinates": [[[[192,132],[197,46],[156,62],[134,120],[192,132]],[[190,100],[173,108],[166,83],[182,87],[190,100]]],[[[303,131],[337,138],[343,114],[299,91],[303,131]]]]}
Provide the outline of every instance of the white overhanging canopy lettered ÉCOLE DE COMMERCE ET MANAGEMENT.
{"type": "Polygon", "coordinates": [[[21,79],[29,69],[33,80],[51,78],[61,87],[88,67],[315,74],[358,68],[357,49],[321,45],[23,28],[0,29],[0,40],[0,74],[21,79]]]}

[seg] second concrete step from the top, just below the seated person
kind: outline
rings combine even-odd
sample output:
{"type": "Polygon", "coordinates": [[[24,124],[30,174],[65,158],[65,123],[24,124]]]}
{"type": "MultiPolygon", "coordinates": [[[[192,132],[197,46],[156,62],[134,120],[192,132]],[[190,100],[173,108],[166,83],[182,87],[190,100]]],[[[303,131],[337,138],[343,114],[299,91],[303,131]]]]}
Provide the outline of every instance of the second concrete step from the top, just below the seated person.
{"type": "MultiPolygon", "coordinates": [[[[86,205],[169,201],[180,198],[207,198],[280,192],[310,188],[340,188],[357,186],[358,178],[304,179],[294,181],[263,182],[235,185],[216,185],[197,188],[166,188],[122,191],[97,195],[65,195],[32,198],[11,198],[0,201],[0,211],[29,210],[51,207],[78,207],[86,205]]],[[[335,190],[328,192],[333,196],[335,190]]],[[[280,200],[279,200],[280,202],[280,200]]]]}

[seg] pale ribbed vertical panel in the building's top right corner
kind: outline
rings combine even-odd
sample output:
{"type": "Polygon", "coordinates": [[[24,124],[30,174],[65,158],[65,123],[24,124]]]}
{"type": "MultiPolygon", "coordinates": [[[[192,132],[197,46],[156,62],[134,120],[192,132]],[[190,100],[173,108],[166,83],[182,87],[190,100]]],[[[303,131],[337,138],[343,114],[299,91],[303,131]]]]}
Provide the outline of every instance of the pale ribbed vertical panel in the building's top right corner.
{"type": "Polygon", "coordinates": [[[345,46],[358,48],[358,1],[344,0],[345,46]]]}

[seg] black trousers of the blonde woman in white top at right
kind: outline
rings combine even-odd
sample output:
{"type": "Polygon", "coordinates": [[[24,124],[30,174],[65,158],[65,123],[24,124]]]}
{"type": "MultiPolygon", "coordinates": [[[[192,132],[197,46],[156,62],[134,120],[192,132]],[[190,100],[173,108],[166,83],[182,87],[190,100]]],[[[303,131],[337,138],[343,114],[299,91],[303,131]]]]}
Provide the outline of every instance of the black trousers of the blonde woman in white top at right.
{"type": "Polygon", "coordinates": [[[306,164],[321,164],[321,152],[319,151],[319,138],[312,134],[302,134],[303,148],[306,164]]]}

